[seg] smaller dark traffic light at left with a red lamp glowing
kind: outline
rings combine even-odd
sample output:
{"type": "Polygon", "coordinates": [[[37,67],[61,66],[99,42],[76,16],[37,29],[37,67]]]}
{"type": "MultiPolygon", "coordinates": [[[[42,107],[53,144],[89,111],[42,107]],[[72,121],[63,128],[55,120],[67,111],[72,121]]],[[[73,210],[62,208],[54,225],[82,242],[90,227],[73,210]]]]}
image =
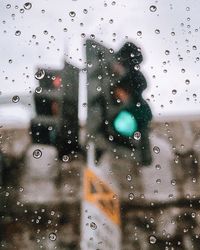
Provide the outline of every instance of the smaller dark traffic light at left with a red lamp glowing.
{"type": "Polygon", "coordinates": [[[36,74],[42,77],[37,78],[39,86],[34,93],[33,143],[55,146],[59,158],[77,152],[79,70],[65,63],[62,70],[40,69],[36,74]]]}

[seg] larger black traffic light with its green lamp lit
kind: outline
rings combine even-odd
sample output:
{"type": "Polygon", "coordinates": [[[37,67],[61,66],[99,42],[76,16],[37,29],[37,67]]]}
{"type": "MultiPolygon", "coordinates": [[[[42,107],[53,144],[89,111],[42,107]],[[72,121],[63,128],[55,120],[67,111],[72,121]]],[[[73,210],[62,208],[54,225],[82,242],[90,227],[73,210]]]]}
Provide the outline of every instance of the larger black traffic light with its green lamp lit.
{"type": "Polygon", "coordinates": [[[142,98],[146,88],[139,71],[142,54],[132,43],[117,53],[111,51],[94,41],[86,42],[90,139],[98,148],[104,138],[113,148],[136,150],[141,164],[149,165],[148,124],[152,114],[142,98]]]}

